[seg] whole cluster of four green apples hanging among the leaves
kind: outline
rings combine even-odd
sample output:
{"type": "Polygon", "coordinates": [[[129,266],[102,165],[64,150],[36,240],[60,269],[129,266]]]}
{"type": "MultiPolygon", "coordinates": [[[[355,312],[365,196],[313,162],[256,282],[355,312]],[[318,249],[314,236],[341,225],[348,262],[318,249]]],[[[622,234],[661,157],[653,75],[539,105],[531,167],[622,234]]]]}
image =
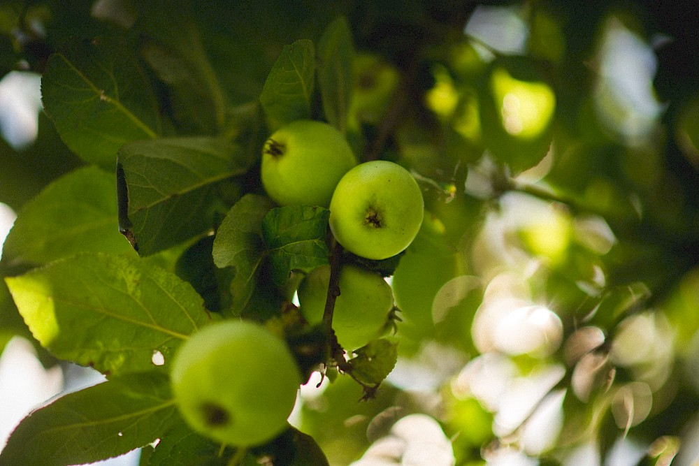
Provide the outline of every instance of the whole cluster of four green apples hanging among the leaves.
{"type": "MultiPolygon", "coordinates": [[[[408,170],[390,161],[358,164],[343,134],[324,122],[297,120],[275,131],[262,151],[261,181],[280,205],[330,207],[336,240],[366,259],[402,252],[422,223],[424,201],[408,170]]],[[[298,287],[301,314],[311,325],[323,321],[330,275],[328,265],[315,268],[298,287]]],[[[351,351],[381,337],[394,310],[382,275],[347,263],[338,286],[332,327],[340,345],[351,351]]],[[[287,428],[301,378],[287,342],[237,319],[189,337],[171,372],[185,421],[240,448],[264,444],[287,428]]]]}

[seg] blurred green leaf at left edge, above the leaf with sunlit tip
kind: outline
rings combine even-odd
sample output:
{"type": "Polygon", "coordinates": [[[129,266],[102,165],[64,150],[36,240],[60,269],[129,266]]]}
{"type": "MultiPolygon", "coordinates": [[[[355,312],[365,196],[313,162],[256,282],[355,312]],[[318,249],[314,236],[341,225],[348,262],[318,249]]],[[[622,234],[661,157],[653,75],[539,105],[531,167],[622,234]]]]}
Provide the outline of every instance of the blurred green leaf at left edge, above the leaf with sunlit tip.
{"type": "Polygon", "coordinates": [[[22,207],[3,247],[10,265],[43,264],[79,252],[133,254],[119,234],[114,175],[79,168],[22,207]]]}

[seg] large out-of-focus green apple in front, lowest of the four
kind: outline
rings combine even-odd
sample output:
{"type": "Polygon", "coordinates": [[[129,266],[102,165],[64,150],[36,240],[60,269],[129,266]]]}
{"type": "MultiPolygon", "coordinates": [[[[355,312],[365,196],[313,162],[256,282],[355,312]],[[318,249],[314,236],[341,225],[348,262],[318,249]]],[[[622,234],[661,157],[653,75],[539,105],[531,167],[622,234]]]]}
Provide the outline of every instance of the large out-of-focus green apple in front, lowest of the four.
{"type": "Polygon", "coordinates": [[[282,339],[257,323],[226,320],[182,344],[171,383],[193,430],[245,447],[264,444],[287,428],[301,374],[282,339]]]}

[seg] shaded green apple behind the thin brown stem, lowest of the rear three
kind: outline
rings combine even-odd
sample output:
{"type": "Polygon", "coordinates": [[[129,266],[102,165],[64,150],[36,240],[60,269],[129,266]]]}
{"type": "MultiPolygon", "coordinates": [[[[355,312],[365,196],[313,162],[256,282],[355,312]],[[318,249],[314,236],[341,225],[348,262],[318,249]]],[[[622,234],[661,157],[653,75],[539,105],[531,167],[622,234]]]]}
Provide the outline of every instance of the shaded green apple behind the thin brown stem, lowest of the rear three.
{"type": "MultiPolygon", "coordinates": [[[[330,267],[322,265],[306,275],[298,288],[301,314],[312,325],[323,321],[329,283],[330,267]]],[[[344,265],[340,270],[339,286],[333,330],[342,347],[351,351],[387,330],[394,307],[393,292],[381,275],[354,265],[344,265]]]]}

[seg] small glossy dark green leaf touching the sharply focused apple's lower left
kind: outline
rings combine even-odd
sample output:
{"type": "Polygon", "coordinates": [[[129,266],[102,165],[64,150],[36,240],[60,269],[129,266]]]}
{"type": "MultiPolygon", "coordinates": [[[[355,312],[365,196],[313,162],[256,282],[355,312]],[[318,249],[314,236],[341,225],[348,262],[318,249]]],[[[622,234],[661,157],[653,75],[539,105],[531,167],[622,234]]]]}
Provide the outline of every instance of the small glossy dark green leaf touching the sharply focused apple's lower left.
{"type": "Polygon", "coordinates": [[[262,222],[269,249],[272,279],[282,285],[293,270],[310,272],[328,263],[330,211],[317,205],[289,205],[272,209],[262,222]]]}

